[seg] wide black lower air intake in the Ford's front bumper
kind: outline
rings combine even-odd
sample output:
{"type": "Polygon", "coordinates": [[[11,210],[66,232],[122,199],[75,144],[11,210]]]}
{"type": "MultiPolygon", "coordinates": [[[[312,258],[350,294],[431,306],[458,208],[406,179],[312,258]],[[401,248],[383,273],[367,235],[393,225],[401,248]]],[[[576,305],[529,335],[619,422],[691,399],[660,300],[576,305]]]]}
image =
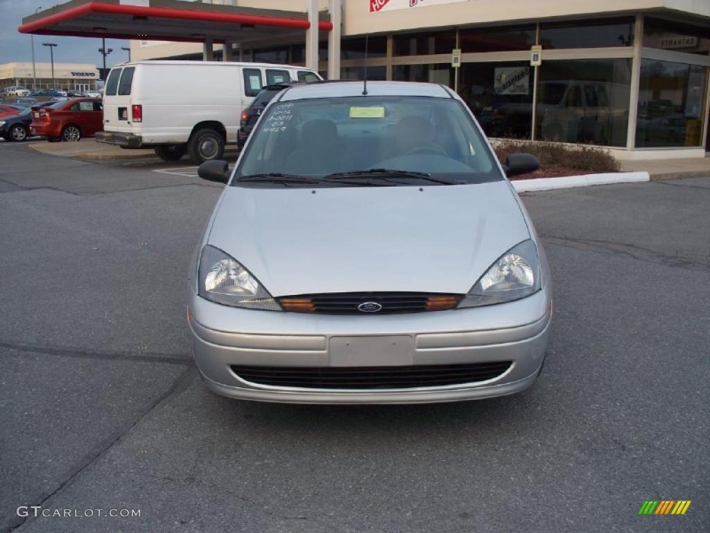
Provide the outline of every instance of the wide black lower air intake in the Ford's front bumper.
{"type": "Polygon", "coordinates": [[[251,367],[232,365],[241,379],[275,387],[310,389],[409,389],[442,387],[493,379],[510,361],[411,367],[251,367]]]}

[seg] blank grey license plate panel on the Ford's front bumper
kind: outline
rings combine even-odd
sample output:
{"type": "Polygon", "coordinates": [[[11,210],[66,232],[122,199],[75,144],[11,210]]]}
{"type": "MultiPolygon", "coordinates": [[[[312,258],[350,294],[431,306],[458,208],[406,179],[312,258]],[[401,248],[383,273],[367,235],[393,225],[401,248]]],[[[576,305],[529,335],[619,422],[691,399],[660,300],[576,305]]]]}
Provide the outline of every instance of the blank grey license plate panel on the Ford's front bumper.
{"type": "Polygon", "coordinates": [[[331,337],[332,367],[391,367],[412,365],[414,340],[410,335],[331,337]]]}

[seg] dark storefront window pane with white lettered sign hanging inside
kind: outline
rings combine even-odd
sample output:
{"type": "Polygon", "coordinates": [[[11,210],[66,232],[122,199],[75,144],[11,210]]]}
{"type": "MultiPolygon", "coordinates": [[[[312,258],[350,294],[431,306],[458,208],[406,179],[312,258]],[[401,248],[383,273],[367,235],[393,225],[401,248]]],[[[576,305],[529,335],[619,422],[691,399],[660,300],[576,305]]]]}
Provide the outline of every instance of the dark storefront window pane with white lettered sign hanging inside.
{"type": "Polygon", "coordinates": [[[529,63],[464,63],[459,95],[486,135],[530,139],[534,69],[529,63]]]}

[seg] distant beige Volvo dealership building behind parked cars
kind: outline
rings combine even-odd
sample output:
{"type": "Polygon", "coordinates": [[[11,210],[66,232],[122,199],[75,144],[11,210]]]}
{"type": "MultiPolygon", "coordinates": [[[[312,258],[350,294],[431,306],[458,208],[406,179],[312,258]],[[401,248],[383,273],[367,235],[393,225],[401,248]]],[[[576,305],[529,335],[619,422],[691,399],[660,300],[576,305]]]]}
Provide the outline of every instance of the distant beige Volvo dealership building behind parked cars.
{"type": "Polygon", "coordinates": [[[0,90],[21,85],[29,90],[63,89],[89,91],[96,89],[99,71],[91,63],[1,63],[0,90]]]}

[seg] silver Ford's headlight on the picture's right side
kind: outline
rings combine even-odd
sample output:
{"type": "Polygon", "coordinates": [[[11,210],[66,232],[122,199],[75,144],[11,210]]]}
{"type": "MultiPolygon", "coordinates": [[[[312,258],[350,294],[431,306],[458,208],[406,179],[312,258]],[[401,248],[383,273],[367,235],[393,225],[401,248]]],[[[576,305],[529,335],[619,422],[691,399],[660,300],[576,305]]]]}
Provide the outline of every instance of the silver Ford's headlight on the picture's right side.
{"type": "Polygon", "coordinates": [[[509,249],[459,303],[459,307],[488,306],[530,296],[540,290],[540,257],[531,239],[509,249]]]}

